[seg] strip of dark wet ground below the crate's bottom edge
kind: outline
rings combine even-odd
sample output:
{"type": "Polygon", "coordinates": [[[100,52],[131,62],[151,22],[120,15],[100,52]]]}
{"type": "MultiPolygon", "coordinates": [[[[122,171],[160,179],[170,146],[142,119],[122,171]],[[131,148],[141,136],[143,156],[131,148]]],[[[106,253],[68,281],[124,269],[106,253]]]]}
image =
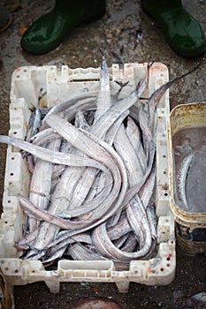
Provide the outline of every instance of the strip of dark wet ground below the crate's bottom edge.
{"type": "Polygon", "coordinates": [[[109,298],[124,309],[164,308],[193,309],[190,297],[205,290],[205,257],[178,253],[177,276],[166,286],[130,283],[128,293],[118,293],[114,283],[62,283],[59,294],[50,294],[44,283],[15,287],[15,308],[61,308],[73,299],[109,298]],[[29,303],[29,307],[28,307],[29,303]]]}

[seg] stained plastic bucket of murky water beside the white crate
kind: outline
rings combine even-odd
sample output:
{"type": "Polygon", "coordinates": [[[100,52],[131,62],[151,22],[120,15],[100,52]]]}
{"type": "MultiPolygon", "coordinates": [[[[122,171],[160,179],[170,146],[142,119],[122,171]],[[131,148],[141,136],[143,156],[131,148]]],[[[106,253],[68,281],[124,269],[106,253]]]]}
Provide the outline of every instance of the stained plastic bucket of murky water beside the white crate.
{"type": "Polygon", "coordinates": [[[205,149],[206,103],[183,104],[172,109],[169,125],[171,208],[179,247],[189,254],[206,252],[205,149]],[[182,162],[185,159],[183,165],[178,163],[179,157],[182,162]],[[184,169],[185,175],[182,174],[184,169]],[[182,206],[179,190],[187,194],[187,207],[182,206]]]}

